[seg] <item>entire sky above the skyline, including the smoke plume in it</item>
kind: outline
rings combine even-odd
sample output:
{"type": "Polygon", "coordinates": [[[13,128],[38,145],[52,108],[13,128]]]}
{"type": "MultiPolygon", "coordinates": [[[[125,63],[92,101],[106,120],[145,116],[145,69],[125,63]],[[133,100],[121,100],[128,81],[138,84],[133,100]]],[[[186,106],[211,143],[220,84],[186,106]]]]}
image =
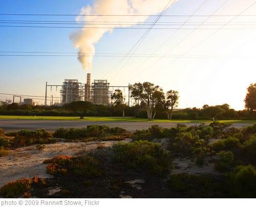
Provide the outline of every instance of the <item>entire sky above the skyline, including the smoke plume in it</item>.
{"type": "MultiPolygon", "coordinates": [[[[243,100],[247,88],[251,83],[256,82],[254,49],[256,47],[256,16],[253,16],[256,14],[256,4],[247,9],[256,2],[255,0],[175,1],[164,13],[172,16],[162,16],[157,22],[176,25],[154,25],[143,41],[137,44],[138,48],[131,53],[142,54],[137,56],[143,57],[125,58],[120,65],[118,65],[119,61],[124,56],[122,54],[128,53],[146,32],[144,29],[134,28],[150,27],[151,23],[146,22],[153,22],[157,16],[134,17],[132,20],[131,17],[129,19],[123,16],[108,17],[108,21],[130,20],[145,24],[144,26],[126,25],[126,29],[1,27],[3,25],[35,25],[7,23],[11,22],[10,20],[75,22],[92,19],[103,21],[104,17],[77,17],[77,14],[95,14],[96,12],[111,15],[123,14],[124,11],[120,8],[112,7],[115,1],[117,0],[73,0],[72,3],[67,0],[0,1],[0,14],[73,15],[0,15],[0,93],[44,96],[46,82],[61,85],[65,79],[78,79],[79,82],[86,83],[86,74],[90,72],[92,81],[108,79],[111,86],[151,82],[162,87],[165,92],[171,89],[177,90],[180,95],[178,108],[202,108],[205,104],[209,106],[229,104],[233,109],[244,109],[243,100]],[[226,1],[227,3],[224,4],[226,1]],[[214,13],[219,7],[221,8],[214,13]],[[242,11],[244,12],[240,14],[242,11]],[[215,16],[209,17],[212,13],[215,16]],[[236,16],[239,14],[240,16],[236,16]],[[190,15],[197,16],[189,17],[190,15]],[[181,27],[183,29],[178,30],[184,22],[196,25],[183,25],[181,27]],[[199,27],[202,22],[207,25],[199,27]],[[228,25],[225,25],[227,23],[228,25]],[[194,30],[197,27],[199,29],[194,30]],[[93,43],[89,44],[91,42],[93,43]],[[13,53],[14,51],[72,53],[73,56],[4,56],[21,54],[13,53]],[[92,51],[96,54],[89,60],[90,67],[87,64],[87,66],[82,65],[81,61],[77,60],[78,51],[83,53],[92,51]],[[115,56],[119,57],[97,57],[97,54],[117,54],[115,56]],[[148,58],[151,55],[153,57],[148,58]],[[173,56],[170,57],[170,55],[173,56]],[[118,67],[114,67],[115,65],[118,67]]],[[[169,2],[168,0],[147,0],[148,4],[142,5],[142,0],[118,1],[121,6],[131,7],[127,14],[135,12],[143,15],[159,15],[169,2]]],[[[54,24],[54,26],[62,25],[54,24]]],[[[81,25],[78,26],[81,27],[81,25]]],[[[48,95],[58,96],[58,90],[59,88],[57,91],[49,89],[48,95]]],[[[0,100],[6,98],[12,99],[12,96],[0,94],[0,100]]],[[[44,104],[44,100],[37,101],[44,104]]]]}

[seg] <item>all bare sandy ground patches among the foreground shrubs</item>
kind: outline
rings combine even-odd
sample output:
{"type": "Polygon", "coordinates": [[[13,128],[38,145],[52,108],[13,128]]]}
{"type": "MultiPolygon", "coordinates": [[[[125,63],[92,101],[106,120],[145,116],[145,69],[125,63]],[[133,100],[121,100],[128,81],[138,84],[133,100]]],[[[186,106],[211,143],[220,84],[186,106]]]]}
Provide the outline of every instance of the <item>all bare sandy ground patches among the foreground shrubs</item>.
{"type": "MultiPolygon", "coordinates": [[[[130,139],[121,142],[130,142],[130,139]]],[[[154,140],[160,142],[163,148],[167,147],[167,139],[154,140]]],[[[211,140],[214,142],[216,140],[211,140]]],[[[12,180],[20,178],[38,177],[53,177],[46,173],[47,164],[43,164],[46,159],[53,158],[57,155],[76,155],[89,152],[102,144],[104,146],[111,146],[118,141],[105,142],[58,142],[55,144],[47,144],[46,148],[42,150],[35,149],[35,145],[26,146],[12,150],[8,156],[0,158],[0,188],[12,180]]],[[[195,161],[190,161],[189,158],[177,158],[173,161],[173,173],[187,173],[187,174],[220,174],[214,169],[214,164],[207,163],[202,167],[196,165],[195,161]]]]}

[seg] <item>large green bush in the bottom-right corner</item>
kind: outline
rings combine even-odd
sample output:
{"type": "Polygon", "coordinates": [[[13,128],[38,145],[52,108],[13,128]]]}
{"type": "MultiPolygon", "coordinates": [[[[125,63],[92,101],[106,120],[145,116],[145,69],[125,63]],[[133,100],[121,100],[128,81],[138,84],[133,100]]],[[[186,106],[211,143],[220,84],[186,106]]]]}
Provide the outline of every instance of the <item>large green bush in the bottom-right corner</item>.
{"type": "Polygon", "coordinates": [[[252,165],[237,166],[233,172],[225,174],[227,190],[238,198],[256,197],[256,170],[252,165]]]}

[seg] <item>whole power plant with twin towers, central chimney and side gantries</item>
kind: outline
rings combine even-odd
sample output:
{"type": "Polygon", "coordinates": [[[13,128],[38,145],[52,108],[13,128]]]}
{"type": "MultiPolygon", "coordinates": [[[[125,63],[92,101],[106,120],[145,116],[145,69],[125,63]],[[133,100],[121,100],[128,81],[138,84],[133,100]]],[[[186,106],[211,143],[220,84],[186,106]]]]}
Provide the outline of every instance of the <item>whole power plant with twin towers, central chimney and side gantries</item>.
{"type": "Polygon", "coordinates": [[[123,93],[128,92],[127,105],[130,106],[132,99],[130,97],[129,86],[111,86],[108,80],[94,80],[91,83],[91,73],[87,73],[87,83],[82,84],[77,79],[65,79],[62,85],[48,85],[46,82],[45,105],[50,100],[50,105],[61,106],[73,101],[89,101],[95,105],[109,106],[111,94],[114,88],[123,88],[123,93]],[[55,88],[56,87],[56,90],[55,88]],[[48,89],[50,95],[48,95],[48,89]],[[54,89],[53,89],[54,88],[54,89]],[[57,89],[60,88],[58,91],[57,89]],[[112,89],[112,90],[111,90],[112,89]],[[48,97],[50,99],[48,99],[48,97]],[[55,103],[53,104],[53,102],[55,103]]]}

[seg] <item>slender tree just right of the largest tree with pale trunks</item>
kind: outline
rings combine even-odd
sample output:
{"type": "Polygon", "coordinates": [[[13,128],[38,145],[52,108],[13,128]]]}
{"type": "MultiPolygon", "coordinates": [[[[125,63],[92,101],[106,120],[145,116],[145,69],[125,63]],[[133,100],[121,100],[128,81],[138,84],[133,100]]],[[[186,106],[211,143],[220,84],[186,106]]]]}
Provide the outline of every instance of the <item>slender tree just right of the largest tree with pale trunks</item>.
{"type": "Polygon", "coordinates": [[[172,119],[173,109],[178,107],[179,92],[169,90],[166,93],[166,114],[168,119],[172,119]]]}

